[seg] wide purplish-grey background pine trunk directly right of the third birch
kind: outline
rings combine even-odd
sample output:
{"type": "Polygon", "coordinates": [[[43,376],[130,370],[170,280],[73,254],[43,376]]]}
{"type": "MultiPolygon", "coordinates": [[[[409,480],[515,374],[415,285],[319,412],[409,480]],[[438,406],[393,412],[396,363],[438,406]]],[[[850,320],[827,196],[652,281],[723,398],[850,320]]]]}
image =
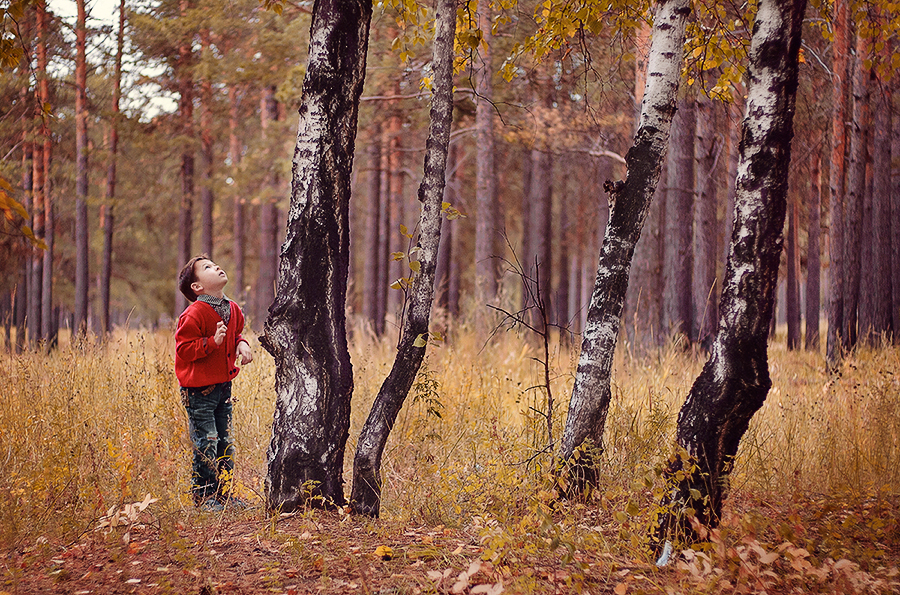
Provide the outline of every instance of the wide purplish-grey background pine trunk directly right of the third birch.
{"type": "Polygon", "coordinates": [[[672,121],[669,149],[669,179],[666,194],[665,239],[663,241],[663,331],[691,340],[693,286],[691,279],[692,219],[694,212],[694,131],[696,100],[678,101],[672,121]]]}

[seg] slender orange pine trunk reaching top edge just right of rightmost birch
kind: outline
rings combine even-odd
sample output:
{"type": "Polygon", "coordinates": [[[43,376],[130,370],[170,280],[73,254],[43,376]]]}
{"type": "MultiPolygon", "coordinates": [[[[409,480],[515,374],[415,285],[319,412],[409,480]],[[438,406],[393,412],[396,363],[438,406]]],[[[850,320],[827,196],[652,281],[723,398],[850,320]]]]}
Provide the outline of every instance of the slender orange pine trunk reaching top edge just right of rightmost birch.
{"type": "MultiPolygon", "coordinates": [[[[834,2],[834,44],[831,79],[831,164],[828,212],[828,335],[827,367],[834,370],[843,352],[844,328],[844,202],[847,94],[850,88],[849,0],[834,2]]],[[[896,270],[896,267],[895,267],[896,270]]]]}

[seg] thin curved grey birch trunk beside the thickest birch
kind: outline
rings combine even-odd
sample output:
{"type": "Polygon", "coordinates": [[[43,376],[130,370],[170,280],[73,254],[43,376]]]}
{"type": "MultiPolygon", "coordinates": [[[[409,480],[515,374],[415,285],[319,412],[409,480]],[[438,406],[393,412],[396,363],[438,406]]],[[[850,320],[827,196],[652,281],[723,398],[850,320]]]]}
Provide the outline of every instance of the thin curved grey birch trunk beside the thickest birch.
{"type": "Polygon", "coordinates": [[[394,365],[372,404],[353,459],[351,506],[354,512],[369,516],[378,516],[381,509],[381,456],[397,414],[425,357],[428,321],[434,298],[434,272],[441,241],[441,202],[453,121],[455,0],[440,0],[437,3],[436,19],[431,127],[425,147],[425,174],[419,186],[419,201],[422,203],[419,240],[413,250],[415,255],[410,254],[410,268],[415,274],[394,365]],[[414,257],[418,265],[413,265],[416,262],[414,257]]]}

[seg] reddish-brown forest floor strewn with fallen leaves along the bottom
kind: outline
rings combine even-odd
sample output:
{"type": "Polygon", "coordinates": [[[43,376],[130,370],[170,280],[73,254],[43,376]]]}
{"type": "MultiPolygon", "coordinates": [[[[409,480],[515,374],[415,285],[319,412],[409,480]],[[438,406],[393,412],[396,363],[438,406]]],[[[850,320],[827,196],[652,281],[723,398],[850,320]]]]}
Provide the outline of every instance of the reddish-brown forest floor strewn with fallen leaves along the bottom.
{"type": "MultiPolygon", "coordinates": [[[[682,554],[659,569],[644,556],[592,548],[566,556],[565,547],[524,542],[507,544],[492,563],[483,531],[471,526],[322,510],[154,515],[148,506],[133,523],[120,515],[118,527],[101,522],[71,544],[0,547],[0,595],[900,593],[897,499],[739,498],[732,507],[762,508],[776,522],[756,534],[759,522],[732,510],[730,535],[713,536],[708,555],[682,554]]],[[[616,521],[589,508],[583,528],[621,536],[616,521]]]]}

